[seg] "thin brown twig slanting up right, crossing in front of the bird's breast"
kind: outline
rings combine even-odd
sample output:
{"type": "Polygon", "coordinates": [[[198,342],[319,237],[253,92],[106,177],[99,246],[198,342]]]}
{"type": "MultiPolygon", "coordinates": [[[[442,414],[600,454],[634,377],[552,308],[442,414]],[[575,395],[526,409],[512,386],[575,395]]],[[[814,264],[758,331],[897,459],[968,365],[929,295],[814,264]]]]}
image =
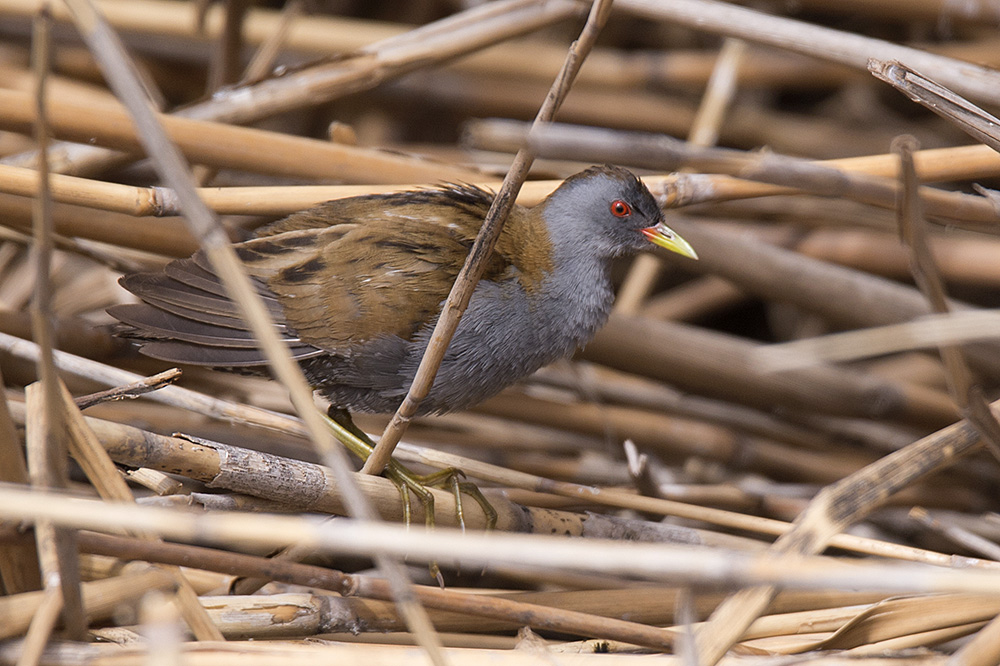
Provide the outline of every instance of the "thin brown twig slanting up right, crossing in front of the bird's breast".
{"type": "MultiPolygon", "coordinates": [[[[607,21],[608,14],[611,12],[611,2],[612,0],[594,1],[580,37],[570,45],[569,53],[566,54],[566,60],[563,62],[562,69],[556,76],[556,80],[552,83],[552,87],[549,88],[548,95],[546,95],[545,101],[542,102],[542,106],[532,123],[532,128],[542,123],[551,122],[555,117],[556,111],[559,110],[566,95],[569,94],[569,90],[573,86],[573,80],[580,71],[584,59],[590,53],[597,40],[597,36],[601,32],[601,28],[604,27],[604,23],[607,21]]],[[[517,193],[528,176],[528,169],[531,168],[534,159],[534,152],[528,148],[521,148],[517,152],[517,155],[514,156],[514,162],[511,164],[510,170],[508,170],[507,176],[500,186],[500,191],[497,192],[497,196],[493,200],[493,205],[490,206],[489,212],[486,213],[486,219],[479,230],[479,235],[476,236],[476,241],[469,251],[469,256],[466,258],[465,264],[462,266],[462,270],[459,272],[458,277],[455,279],[455,284],[448,294],[448,299],[445,301],[441,315],[434,326],[434,333],[431,335],[424,356],[417,367],[417,373],[413,378],[410,390],[406,393],[406,397],[403,399],[399,409],[392,415],[389,425],[386,426],[385,432],[382,433],[378,446],[375,447],[375,450],[365,462],[362,468],[363,472],[367,472],[368,474],[379,474],[382,472],[389,462],[396,444],[399,443],[403,433],[406,432],[407,426],[417,413],[417,408],[430,392],[431,385],[434,383],[434,377],[437,375],[441,361],[444,359],[444,354],[448,350],[448,343],[451,342],[451,338],[458,328],[458,323],[462,319],[462,314],[469,305],[472,292],[475,290],[476,284],[478,284],[479,278],[482,277],[483,271],[486,268],[486,262],[493,255],[493,248],[500,238],[503,224],[514,206],[514,200],[517,198],[517,193]]]]}

